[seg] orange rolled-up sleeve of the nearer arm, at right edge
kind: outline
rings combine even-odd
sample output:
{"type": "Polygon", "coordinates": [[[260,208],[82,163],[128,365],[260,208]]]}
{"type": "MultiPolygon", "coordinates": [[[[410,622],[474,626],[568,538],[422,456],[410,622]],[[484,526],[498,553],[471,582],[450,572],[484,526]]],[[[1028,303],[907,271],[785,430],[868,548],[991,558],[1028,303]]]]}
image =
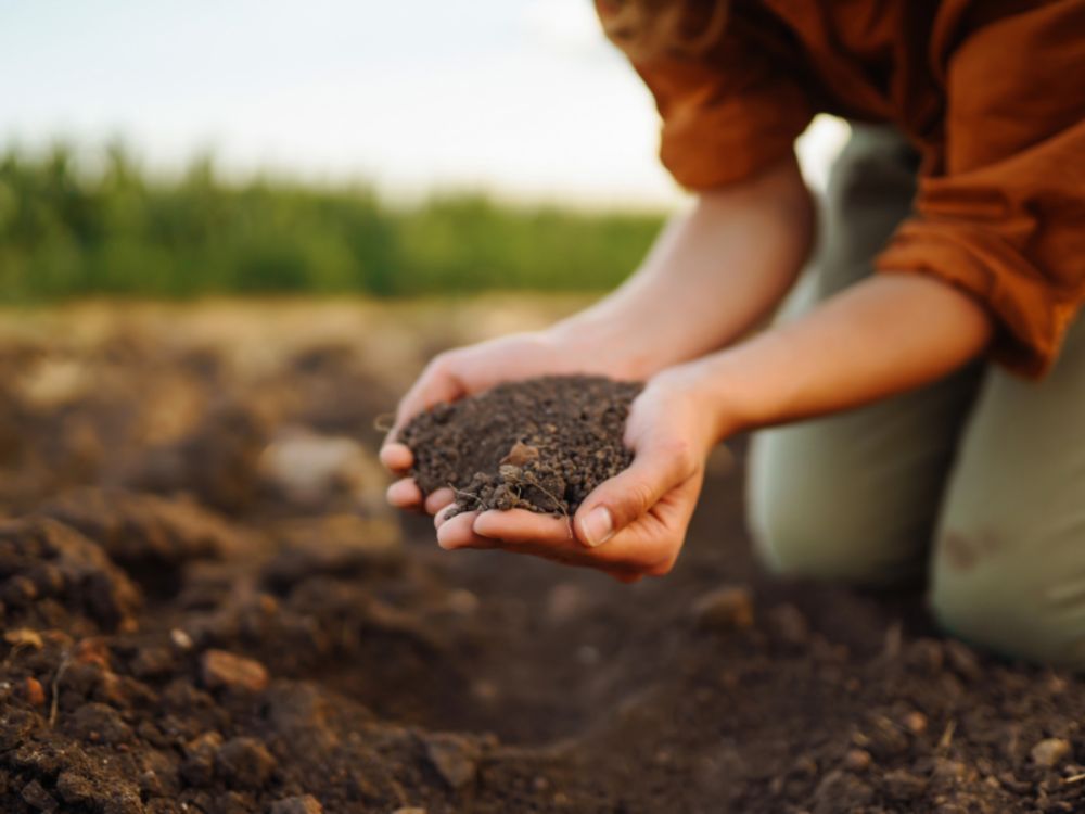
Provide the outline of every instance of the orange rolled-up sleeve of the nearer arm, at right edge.
{"type": "Polygon", "coordinates": [[[975,296],[994,358],[1038,378],[1085,301],[1085,3],[986,22],[947,65],[941,161],[877,267],[975,296]]]}

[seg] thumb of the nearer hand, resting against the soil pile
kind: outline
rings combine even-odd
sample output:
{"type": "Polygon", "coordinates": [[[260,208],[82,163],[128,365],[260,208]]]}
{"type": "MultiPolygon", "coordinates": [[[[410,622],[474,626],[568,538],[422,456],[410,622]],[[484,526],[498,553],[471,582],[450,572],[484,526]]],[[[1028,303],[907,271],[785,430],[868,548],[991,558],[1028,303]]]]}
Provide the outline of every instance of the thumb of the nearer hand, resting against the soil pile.
{"type": "Polygon", "coordinates": [[[685,444],[646,444],[628,469],[601,483],[577,509],[576,536],[591,548],[601,546],[691,476],[692,461],[685,444]]]}

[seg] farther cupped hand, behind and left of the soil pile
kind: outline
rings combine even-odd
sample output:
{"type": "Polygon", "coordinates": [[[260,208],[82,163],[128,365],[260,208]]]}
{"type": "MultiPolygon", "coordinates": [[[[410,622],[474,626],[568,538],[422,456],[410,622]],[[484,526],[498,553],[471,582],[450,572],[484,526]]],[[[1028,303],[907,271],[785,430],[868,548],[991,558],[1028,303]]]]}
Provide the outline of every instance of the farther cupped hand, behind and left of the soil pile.
{"type": "MultiPolygon", "coordinates": [[[[536,376],[603,373],[613,361],[586,353],[569,332],[520,333],[448,351],[422,371],[396,410],[395,424],[381,448],[381,462],[393,473],[406,475],[413,456],[396,443],[396,433],[417,414],[442,402],[454,402],[503,381],[536,376]]],[[[400,509],[424,508],[435,514],[454,500],[451,489],[422,495],[412,478],[403,476],[388,487],[388,503],[400,509]]]]}

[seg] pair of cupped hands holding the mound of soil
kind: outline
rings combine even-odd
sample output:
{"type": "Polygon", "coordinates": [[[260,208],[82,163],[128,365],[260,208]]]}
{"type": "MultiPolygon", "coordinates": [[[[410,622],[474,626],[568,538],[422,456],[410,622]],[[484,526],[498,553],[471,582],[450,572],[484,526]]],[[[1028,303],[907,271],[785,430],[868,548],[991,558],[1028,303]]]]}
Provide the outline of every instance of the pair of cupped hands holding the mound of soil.
{"type": "MultiPolygon", "coordinates": [[[[524,333],[449,351],[435,357],[400,402],[381,461],[399,476],[388,501],[434,516],[443,548],[500,548],[572,565],[595,568],[622,582],[667,573],[678,558],[704,480],[704,461],[716,441],[716,422],[695,365],[679,365],[648,379],[625,429],[633,463],[600,484],[572,522],[524,509],[468,511],[446,518],[451,489],[423,495],[408,476],[413,456],[396,441],[413,416],[503,381],[547,374],[597,373],[631,378],[621,365],[592,367],[598,351],[551,335],[524,333]]],[[[601,361],[599,364],[602,364],[601,361]]]]}

